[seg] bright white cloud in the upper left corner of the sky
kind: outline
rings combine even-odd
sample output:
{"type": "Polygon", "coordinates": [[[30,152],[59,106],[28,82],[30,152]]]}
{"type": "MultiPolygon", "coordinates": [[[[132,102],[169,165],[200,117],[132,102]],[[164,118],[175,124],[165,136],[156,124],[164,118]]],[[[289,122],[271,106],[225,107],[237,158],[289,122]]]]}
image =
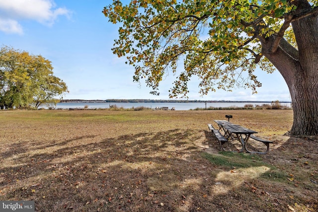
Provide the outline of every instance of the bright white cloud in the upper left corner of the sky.
{"type": "Polygon", "coordinates": [[[0,0],[0,30],[21,34],[18,20],[29,19],[52,25],[58,16],[70,14],[67,8],[56,8],[53,0],[0,0]]]}

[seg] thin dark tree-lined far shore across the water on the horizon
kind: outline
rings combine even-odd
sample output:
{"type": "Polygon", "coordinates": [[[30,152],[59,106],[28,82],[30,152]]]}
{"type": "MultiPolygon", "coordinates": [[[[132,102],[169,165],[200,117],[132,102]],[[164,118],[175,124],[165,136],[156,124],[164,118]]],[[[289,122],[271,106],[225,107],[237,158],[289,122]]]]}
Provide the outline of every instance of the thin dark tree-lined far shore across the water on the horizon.
{"type": "MultiPolygon", "coordinates": [[[[277,101],[277,100],[275,100],[277,101]]],[[[106,100],[85,100],[85,99],[62,99],[61,103],[105,103],[105,102],[123,102],[123,103],[271,103],[275,101],[227,101],[227,100],[164,100],[164,99],[106,99],[106,100]]],[[[290,101],[279,101],[280,103],[291,103],[290,101]]]]}

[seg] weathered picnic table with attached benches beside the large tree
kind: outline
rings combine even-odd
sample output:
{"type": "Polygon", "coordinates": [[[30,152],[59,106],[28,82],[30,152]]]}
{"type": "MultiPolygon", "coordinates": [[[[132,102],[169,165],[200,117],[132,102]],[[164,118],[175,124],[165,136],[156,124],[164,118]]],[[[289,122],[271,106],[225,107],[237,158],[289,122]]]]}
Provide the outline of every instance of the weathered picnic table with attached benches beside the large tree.
{"type": "MultiPolygon", "coordinates": [[[[228,117],[227,117],[228,118],[228,117]]],[[[232,117],[231,117],[232,118],[232,117]]],[[[238,139],[242,145],[242,148],[239,152],[246,151],[248,153],[258,153],[258,154],[266,154],[269,151],[269,144],[272,141],[263,140],[254,136],[253,134],[257,133],[256,131],[250,130],[248,128],[242,127],[237,124],[233,124],[226,120],[214,120],[214,122],[219,126],[219,130],[216,130],[212,124],[208,124],[209,130],[211,131],[212,135],[220,141],[221,149],[226,151],[224,148],[224,144],[228,142],[230,139],[238,139]],[[224,135],[221,134],[223,131],[224,135]],[[265,151],[251,151],[247,148],[247,142],[253,139],[255,141],[260,141],[266,145],[265,151]]]]}

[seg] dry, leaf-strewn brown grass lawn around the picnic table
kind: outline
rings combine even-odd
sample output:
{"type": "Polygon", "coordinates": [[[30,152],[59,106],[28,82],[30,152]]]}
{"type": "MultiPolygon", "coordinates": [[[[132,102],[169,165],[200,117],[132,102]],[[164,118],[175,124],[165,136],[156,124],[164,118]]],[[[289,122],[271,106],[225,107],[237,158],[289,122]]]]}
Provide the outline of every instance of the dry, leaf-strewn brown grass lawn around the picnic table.
{"type": "Polygon", "coordinates": [[[291,110],[3,111],[0,200],[36,211],[318,211],[318,138],[283,136],[291,110]],[[223,153],[207,124],[274,141],[223,153]]]}

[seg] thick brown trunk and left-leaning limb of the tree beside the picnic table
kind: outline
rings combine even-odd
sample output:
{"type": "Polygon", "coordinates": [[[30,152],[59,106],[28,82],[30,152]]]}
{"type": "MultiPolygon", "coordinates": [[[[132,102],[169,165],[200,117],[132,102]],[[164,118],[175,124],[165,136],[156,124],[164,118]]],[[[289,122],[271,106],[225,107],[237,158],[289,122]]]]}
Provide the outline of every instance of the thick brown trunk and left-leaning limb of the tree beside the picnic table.
{"type": "MultiPolygon", "coordinates": [[[[306,9],[303,5],[299,9],[306,9]]],[[[302,11],[300,11],[302,12],[302,11]]],[[[294,111],[292,135],[318,135],[318,18],[307,16],[292,22],[298,50],[281,40],[272,53],[275,36],[262,42],[265,57],[283,75],[294,111]]]]}

